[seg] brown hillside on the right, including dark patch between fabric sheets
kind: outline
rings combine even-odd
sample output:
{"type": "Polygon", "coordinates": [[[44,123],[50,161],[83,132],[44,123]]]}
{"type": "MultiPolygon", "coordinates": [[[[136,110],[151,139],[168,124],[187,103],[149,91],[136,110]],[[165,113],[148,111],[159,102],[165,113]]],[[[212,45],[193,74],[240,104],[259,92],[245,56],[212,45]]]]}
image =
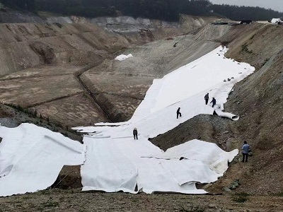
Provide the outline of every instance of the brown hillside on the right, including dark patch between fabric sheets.
{"type": "Polygon", "coordinates": [[[217,143],[231,151],[243,141],[252,147],[249,163],[233,162],[223,179],[208,188],[223,192],[233,179],[241,179],[237,192],[278,194],[283,190],[283,27],[236,25],[218,41],[228,45],[226,57],[255,66],[255,73],[236,84],[225,110],[238,114],[237,122],[199,115],[176,129],[152,139],[163,149],[190,139],[217,143]]]}

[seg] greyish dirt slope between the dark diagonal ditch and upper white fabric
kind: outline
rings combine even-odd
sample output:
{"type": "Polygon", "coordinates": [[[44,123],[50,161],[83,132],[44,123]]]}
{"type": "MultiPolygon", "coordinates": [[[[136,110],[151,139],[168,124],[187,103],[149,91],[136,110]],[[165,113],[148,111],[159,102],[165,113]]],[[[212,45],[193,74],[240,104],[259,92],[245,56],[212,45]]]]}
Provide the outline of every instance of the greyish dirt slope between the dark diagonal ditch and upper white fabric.
{"type": "Polygon", "coordinates": [[[125,121],[132,117],[154,78],[162,78],[219,46],[197,37],[181,35],[127,49],[120,54],[134,57],[124,61],[106,59],[83,73],[81,79],[101,102],[111,102],[112,107],[107,110],[115,121],[125,121]]]}

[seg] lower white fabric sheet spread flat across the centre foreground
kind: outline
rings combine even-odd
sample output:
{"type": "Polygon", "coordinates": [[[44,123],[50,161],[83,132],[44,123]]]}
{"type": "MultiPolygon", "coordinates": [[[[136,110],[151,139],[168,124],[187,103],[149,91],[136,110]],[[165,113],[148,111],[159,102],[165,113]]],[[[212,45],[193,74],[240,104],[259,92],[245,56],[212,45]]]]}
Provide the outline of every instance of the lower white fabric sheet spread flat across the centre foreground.
{"type": "Polygon", "coordinates": [[[87,145],[81,166],[83,191],[204,194],[195,182],[216,181],[238,154],[238,150],[226,153],[214,143],[198,140],[165,153],[142,136],[139,140],[84,136],[83,142],[87,145]]]}

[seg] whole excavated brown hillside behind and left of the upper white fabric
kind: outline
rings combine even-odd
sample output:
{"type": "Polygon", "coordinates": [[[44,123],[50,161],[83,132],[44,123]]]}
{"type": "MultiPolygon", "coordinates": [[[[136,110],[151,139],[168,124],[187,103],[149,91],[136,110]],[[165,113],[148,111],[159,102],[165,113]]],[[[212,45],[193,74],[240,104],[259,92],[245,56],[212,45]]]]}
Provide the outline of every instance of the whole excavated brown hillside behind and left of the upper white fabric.
{"type": "MultiPolygon", "coordinates": [[[[6,15],[6,19],[15,17],[11,12],[6,15]]],[[[125,121],[132,116],[154,78],[217,46],[213,42],[194,43],[194,34],[214,19],[183,16],[180,23],[166,23],[125,16],[93,19],[72,16],[41,18],[40,23],[0,24],[1,102],[36,110],[42,117],[67,126],[125,121]],[[57,20],[60,23],[52,23],[57,20]],[[174,43],[181,39],[172,38],[177,35],[184,37],[183,42],[187,41],[174,49],[174,43]],[[150,44],[142,46],[146,43],[150,44]],[[157,61],[165,44],[168,55],[157,61]],[[146,61],[152,57],[150,49],[154,46],[151,45],[158,47],[153,52],[156,56],[146,61]],[[190,51],[185,49],[188,45],[190,51]],[[115,55],[136,46],[139,47],[132,53],[142,57],[138,64],[133,63],[127,69],[121,66],[115,73],[103,68],[105,64],[119,66],[114,61],[115,55]],[[143,53],[139,49],[144,49],[143,53]],[[173,59],[176,49],[180,55],[178,60],[173,59]],[[168,59],[175,63],[165,66],[168,59]],[[158,67],[155,62],[163,66],[158,67]],[[147,73],[148,68],[152,73],[147,73]],[[128,89],[125,89],[125,78],[132,82],[127,85],[128,89]]],[[[37,19],[19,14],[11,20],[34,22],[37,19]]]]}

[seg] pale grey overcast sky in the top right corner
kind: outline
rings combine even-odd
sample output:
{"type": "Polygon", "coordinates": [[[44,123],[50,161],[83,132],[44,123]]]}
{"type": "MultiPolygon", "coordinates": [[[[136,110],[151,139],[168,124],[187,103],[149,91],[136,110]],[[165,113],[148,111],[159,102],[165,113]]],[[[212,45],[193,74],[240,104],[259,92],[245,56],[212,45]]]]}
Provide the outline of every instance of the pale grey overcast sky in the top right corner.
{"type": "Polygon", "coordinates": [[[238,6],[260,6],[283,12],[283,0],[210,0],[213,4],[231,4],[238,6]]]}

